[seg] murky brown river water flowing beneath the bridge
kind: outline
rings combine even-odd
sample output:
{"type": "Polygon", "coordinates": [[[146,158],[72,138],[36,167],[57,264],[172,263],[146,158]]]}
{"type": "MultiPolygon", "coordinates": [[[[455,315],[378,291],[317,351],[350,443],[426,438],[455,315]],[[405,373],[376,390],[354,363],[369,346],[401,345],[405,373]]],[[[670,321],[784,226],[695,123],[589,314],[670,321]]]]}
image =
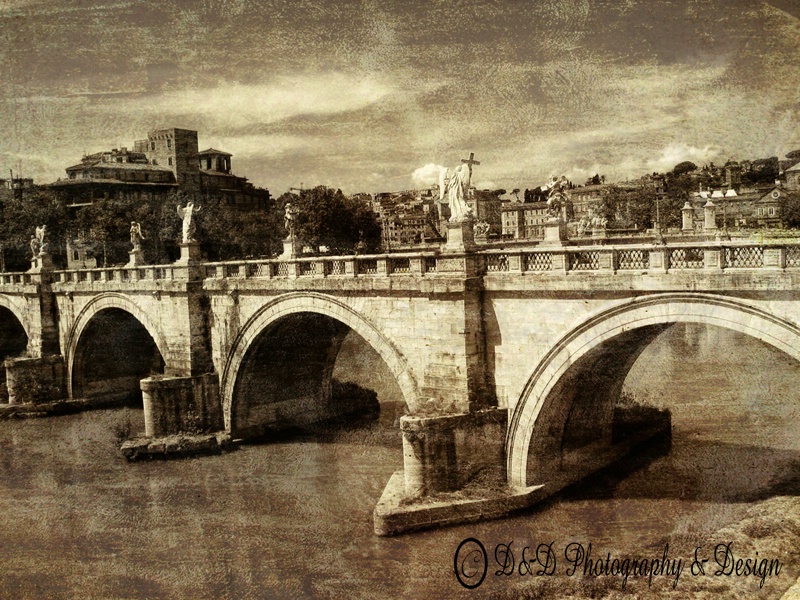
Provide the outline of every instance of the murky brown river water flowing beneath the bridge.
{"type": "MultiPolygon", "coordinates": [[[[468,592],[454,551],[474,537],[490,553],[580,541],[655,558],[800,487],[798,364],[739,334],[674,326],[626,382],[673,411],[669,455],[513,518],[379,538],[372,510],[402,467],[399,409],[396,388],[366,364],[338,369],[380,388],[378,420],[221,456],[127,464],[114,429],[126,418],[142,428],[132,409],[0,422],[0,597],[558,597],[552,582],[495,576],[493,562],[468,592]]],[[[800,565],[785,569],[796,578],[800,565]]],[[[635,585],[628,593],[646,597],[635,585]]],[[[767,586],[759,597],[776,595],[767,586]]]]}

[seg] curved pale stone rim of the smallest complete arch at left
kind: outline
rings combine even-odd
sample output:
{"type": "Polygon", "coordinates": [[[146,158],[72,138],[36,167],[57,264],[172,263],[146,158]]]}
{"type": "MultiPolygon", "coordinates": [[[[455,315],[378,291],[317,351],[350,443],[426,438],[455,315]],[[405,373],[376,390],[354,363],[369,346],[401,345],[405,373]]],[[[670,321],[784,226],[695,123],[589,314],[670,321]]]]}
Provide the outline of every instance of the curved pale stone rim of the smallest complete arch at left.
{"type": "Polygon", "coordinates": [[[164,336],[153,324],[144,310],[123,294],[115,292],[100,294],[92,298],[92,300],[81,309],[67,335],[64,358],[67,365],[67,389],[70,398],[74,397],[73,394],[75,390],[73,389],[73,384],[75,381],[76,358],[78,357],[79,344],[81,343],[84,333],[86,333],[87,328],[95,321],[98,314],[112,310],[122,311],[135,319],[135,321],[150,335],[163,360],[168,360],[168,346],[164,336]]]}

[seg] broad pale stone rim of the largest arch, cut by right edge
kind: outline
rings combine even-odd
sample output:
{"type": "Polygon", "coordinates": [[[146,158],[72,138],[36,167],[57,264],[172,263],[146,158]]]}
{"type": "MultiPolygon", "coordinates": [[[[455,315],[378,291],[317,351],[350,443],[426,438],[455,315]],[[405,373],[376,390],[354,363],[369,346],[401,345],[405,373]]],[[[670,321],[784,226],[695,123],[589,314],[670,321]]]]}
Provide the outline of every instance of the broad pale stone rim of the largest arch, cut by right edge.
{"type": "MultiPolygon", "coordinates": [[[[606,383],[618,386],[639,353],[665,327],[673,323],[701,323],[731,329],[765,342],[800,361],[800,327],[745,302],[711,294],[655,294],[640,296],[602,310],[563,336],[527,379],[509,420],[506,437],[508,480],[528,482],[531,441],[547,427],[550,406],[564,386],[575,383],[576,373],[586,375],[597,364],[611,373],[606,383]],[[603,353],[620,352],[602,362],[603,353]],[[582,366],[583,363],[583,366],[582,366]],[[572,379],[570,381],[570,379],[572,379]],[[613,380],[613,382],[612,382],[613,380]]],[[[578,375],[578,376],[579,376],[578,375]]]]}

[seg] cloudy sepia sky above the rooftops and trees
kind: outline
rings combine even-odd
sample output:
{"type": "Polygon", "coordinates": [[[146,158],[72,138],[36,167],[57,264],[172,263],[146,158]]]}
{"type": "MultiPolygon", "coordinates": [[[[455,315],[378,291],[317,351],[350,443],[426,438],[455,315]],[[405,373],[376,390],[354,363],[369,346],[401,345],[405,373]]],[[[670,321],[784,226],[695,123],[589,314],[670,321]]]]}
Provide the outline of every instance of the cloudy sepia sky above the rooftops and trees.
{"type": "Polygon", "coordinates": [[[800,2],[0,0],[0,169],[149,130],[279,195],[663,171],[800,148],[800,2]]]}

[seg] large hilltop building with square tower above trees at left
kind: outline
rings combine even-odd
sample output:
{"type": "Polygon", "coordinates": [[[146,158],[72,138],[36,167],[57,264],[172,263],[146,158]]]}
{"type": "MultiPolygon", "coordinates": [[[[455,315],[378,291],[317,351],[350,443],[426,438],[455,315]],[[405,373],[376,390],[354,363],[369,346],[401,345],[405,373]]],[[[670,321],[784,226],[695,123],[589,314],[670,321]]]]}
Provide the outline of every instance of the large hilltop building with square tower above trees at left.
{"type": "Polygon", "coordinates": [[[109,197],[167,202],[181,193],[222,197],[239,210],[266,208],[269,191],[234,175],[231,157],[214,148],[200,152],[196,131],[158,129],[134,142],[133,150],[122,147],[84,156],[67,167],[66,179],[49,187],[74,207],[109,197]]]}

